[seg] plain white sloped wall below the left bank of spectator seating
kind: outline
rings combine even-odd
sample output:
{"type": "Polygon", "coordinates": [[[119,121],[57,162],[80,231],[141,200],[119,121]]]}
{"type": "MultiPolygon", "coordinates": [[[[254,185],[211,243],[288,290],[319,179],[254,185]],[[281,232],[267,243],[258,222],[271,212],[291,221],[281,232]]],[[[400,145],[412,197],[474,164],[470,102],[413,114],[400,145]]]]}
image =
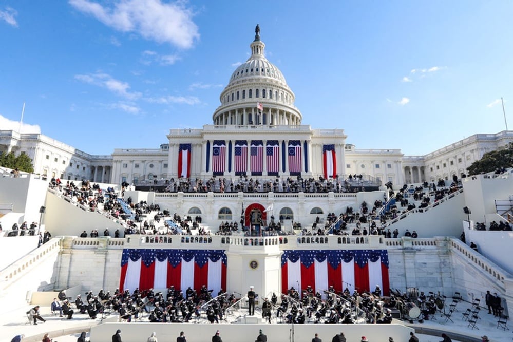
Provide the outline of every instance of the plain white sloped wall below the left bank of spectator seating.
{"type": "Polygon", "coordinates": [[[85,212],[81,208],[48,193],[46,199],[47,212],[44,215],[46,230],[52,236],[58,235],[76,235],[80,236],[83,231],[87,234],[93,229],[97,229],[99,234],[103,234],[105,228],[108,228],[113,234],[116,229],[123,231],[123,227],[115,221],[100,215],[96,212],[85,212]]]}

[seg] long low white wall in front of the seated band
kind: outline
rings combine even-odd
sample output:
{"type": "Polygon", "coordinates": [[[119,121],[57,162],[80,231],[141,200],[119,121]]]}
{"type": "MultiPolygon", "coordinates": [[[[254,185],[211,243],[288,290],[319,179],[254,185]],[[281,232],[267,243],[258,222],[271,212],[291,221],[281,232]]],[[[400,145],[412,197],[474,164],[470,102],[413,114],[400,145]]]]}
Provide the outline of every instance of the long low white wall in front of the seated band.
{"type": "Polygon", "coordinates": [[[157,333],[159,341],[174,341],[180,331],[185,333],[187,342],[210,341],[217,330],[223,342],[253,342],[258,336],[258,331],[263,330],[269,341],[288,341],[294,332],[295,342],[310,342],[315,333],[324,341],[344,331],[349,342],[359,341],[366,336],[370,341],[385,341],[393,337],[396,342],[407,342],[410,331],[413,329],[399,324],[353,324],[353,325],[311,325],[296,324],[216,324],[216,325],[190,325],[190,324],[162,324],[162,323],[105,323],[91,328],[91,341],[110,340],[110,336],[121,330],[123,342],[141,342],[147,340],[152,332],[157,333]]]}

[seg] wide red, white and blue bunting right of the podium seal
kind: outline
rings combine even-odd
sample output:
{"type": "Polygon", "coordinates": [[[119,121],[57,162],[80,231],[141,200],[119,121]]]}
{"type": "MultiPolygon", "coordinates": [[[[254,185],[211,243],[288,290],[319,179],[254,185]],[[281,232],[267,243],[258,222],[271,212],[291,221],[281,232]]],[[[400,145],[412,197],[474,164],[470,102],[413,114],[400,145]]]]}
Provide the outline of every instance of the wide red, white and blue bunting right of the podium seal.
{"type": "Polygon", "coordinates": [[[323,293],[333,286],[338,293],[371,292],[379,286],[390,293],[387,250],[286,250],[281,256],[281,291],[311,286],[323,293]]]}

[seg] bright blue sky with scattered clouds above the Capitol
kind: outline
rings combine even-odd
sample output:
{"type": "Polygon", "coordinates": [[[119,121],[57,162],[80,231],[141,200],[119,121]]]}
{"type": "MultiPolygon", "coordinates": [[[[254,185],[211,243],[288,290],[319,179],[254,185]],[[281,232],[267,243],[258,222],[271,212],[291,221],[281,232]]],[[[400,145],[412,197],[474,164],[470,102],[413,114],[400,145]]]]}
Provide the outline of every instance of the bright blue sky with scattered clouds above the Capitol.
{"type": "Polygon", "coordinates": [[[258,23],[303,124],[424,155],[513,128],[511,1],[0,0],[0,129],[90,154],[212,123],[258,23]]]}

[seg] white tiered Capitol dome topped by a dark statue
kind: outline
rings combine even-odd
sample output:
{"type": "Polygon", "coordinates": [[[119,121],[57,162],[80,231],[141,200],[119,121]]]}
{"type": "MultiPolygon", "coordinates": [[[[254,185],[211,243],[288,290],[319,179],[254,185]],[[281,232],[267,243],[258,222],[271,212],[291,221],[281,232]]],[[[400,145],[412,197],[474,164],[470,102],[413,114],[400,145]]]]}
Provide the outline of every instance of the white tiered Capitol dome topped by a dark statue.
{"type": "Polygon", "coordinates": [[[258,25],[255,32],[250,58],[235,69],[221,92],[214,125],[300,125],[294,93],[280,69],[265,58],[258,25]]]}

